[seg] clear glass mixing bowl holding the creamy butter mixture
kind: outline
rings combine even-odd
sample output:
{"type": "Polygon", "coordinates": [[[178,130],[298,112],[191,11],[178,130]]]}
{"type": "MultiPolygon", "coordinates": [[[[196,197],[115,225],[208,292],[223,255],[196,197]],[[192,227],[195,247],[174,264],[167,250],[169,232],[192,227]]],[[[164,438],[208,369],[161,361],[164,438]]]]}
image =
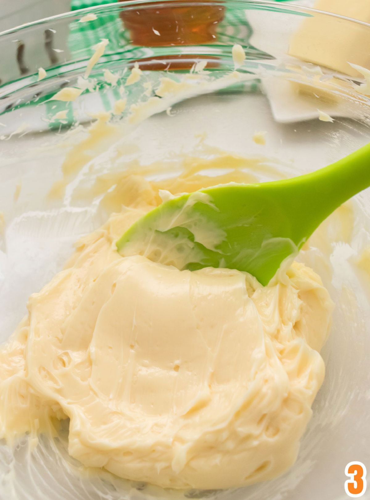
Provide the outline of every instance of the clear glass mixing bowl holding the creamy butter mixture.
{"type": "MultiPolygon", "coordinates": [[[[73,241],[105,221],[107,211],[98,194],[92,199],[75,195],[86,192],[97,177],[128,167],[146,171],[149,178],[176,176],[185,156],[207,159],[228,151],[259,158],[248,167],[251,176],[270,180],[320,168],[369,142],[370,100],[356,91],[362,75],[346,66],[347,61],[369,62],[366,40],[366,23],[290,3],[252,0],[119,2],[1,33],[1,340],[26,313],[29,294],[62,269],[73,241]],[[97,19],[78,22],[88,12],[97,19]],[[292,55],[292,40],[302,23],[307,28],[301,38],[306,60],[292,55]],[[341,48],[339,70],[338,63],[330,63],[337,32],[349,40],[346,50],[341,48]],[[85,89],[74,101],[50,100],[65,86],[84,85],[81,77],[94,53],[91,47],[102,38],[109,44],[89,75],[94,91],[85,89]],[[360,43],[351,48],[353,39],[360,43]],[[246,53],[238,77],[233,74],[235,43],[246,53]],[[135,62],[141,77],[123,87],[135,62]],[[324,75],[316,63],[322,64],[324,75]],[[38,81],[39,67],[46,77],[38,81]],[[118,74],[117,85],[106,81],[106,69],[118,74]],[[191,85],[158,98],[161,78],[191,85]],[[96,114],[111,111],[122,98],[127,98],[126,109],[111,116],[119,133],[110,130],[104,139],[89,136],[86,129],[96,114]],[[319,120],[318,109],[335,121],[319,120]],[[266,132],[264,146],[252,138],[260,131],[266,132]],[[160,172],[150,167],[156,161],[160,172]]],[[[369,281],[354,265],[370,242],[369,190],[351,206],[350,228],[338,232],[329,224],[330,244],[307,254],[336,311],[322,352],[325,382],[298,460],[285,475],[237,490],[165,491],[84,471],[68,457],[65,428],[52,442],[41,437],[33,450],[26,440],[14,450],[0,446],[0,497],[346,498],[346,464],[360,460],[370,468],[369,281]],[[73,474],[70,467],[80,473],[73,474]]]]}

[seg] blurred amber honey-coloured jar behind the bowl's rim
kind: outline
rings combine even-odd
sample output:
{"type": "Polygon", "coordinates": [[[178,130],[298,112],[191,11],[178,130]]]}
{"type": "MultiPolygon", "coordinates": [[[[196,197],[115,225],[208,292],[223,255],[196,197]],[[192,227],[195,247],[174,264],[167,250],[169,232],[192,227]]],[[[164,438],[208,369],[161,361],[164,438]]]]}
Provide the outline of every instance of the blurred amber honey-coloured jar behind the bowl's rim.
{"type": "MultiPolygon", "coordinates": [[[[134,45],[199,45],[217,40],[216,29],[224,18],[224,7],[204,2],[200,5],[184,5],[176,0],[167,3],[168,6],[163,7],[163,2],[153,2],[149,7],[138,6],[121,12],[120,16],[130,31],[134,45]]],[[[179,59],[183,59],[183,56],[170,58],[178,60],[180,64],[179,59]]],[[[181,68],[184,67],[189,67],[189,63],[182,61],[181,68]]]]}

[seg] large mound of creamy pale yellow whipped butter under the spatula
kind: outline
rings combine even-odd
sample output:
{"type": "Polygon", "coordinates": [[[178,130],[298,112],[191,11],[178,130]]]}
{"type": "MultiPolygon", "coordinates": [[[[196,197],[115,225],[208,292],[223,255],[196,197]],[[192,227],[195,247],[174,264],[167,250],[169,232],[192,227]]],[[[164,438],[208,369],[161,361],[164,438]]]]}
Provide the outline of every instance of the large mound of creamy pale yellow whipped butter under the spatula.
{"type": "Polygon", "coordinates": [[[284,472],[324,379],[333,303],[320,277],[294,263],[263,287],[121,257],[115,240],[160,203],[158,185],[131,175],[107,196],[126,206],[77,241],[0,351],[0,436],[53,435],[69,417],[73,457],[164,487],[284,472]]]}

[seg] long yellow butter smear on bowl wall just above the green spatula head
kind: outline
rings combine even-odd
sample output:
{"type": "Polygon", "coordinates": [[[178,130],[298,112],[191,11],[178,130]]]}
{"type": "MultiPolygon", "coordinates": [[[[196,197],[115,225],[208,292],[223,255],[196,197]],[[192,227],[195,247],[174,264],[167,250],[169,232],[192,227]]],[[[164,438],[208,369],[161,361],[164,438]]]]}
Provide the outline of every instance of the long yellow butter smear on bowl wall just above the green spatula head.
{"type": "MultiPolygon", "coordinates": [[[[152,207],[158,205],[161,201],[161,194],[169,192],[173,196],[179,196],[184,192],[193,192],[202,188],[211,187],[218,184],[227,184],[229,182],[238,182],[241,184],[253,184],[258,182],[255,172],[264,172],[272,178],[281,178],[279,169],[269,164],[269,160],[260,157],[246,158],[236,154],[230,154],[222,149],[208,146],[204,143],[204,134],[201,135],[200,149],[198,155],[181,155],[180,163],[174,161],[154,161],[150,164],[134,163],[127,165],[124,171],[104,173],[96,178],[93,186],[83,189],[76,188],[73,200],[76,202],[90,203],[96,197],[101,197],[101,205],[108,212],[119,212],[123,205],[137,207],[145,199],[147,204],[152,207]],[[202,155],[206,155],[203,157],[202,155]],[[225,165],[228,165],[228,171],[225,173],[225,165]],[[212,170],[213,175],[207,175],[205,172],[212,170]],[[174,172],[178,175],[173,176],[174,172]],[[140,196],[137,193],[137,176],[161,175],[161,179],[147,184],[147,198],[143,198],[143,191],[140,196]],[[153,195],[154,191],[154,195],[153,195]]],[[[91,146],[90,146],[91,147],[91,146]]],[[[76,155],[78,151],[76,151],[76,155]]],[[[71,151],[71,158],[73,158],[71,151]]],[[[139,184],[140,185],[140,184],[139,184]]],[[[342,205],[345,207],[346,205],[342,205]]]]}

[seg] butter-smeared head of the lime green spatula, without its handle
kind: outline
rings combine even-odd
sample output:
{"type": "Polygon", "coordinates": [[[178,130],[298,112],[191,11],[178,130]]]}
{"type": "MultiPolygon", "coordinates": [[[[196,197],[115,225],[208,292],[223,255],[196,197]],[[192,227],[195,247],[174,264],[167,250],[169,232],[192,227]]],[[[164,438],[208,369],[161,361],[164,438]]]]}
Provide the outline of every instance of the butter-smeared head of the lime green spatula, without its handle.
{"type": "Polygon", "coordinates": [[[122,235],[118,252],[178,269],[239,269],[265,285],[303,243],[274,190],[266,189],[272,184],[220,185],[169,199],[122,235]]]}

